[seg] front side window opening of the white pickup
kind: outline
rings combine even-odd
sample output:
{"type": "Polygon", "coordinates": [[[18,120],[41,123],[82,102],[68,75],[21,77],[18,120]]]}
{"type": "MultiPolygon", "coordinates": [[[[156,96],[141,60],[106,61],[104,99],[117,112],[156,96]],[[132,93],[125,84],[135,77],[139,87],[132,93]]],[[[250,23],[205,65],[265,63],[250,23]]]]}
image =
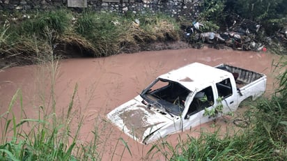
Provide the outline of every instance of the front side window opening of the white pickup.
{"type": "Polygon", "coordinates": [[[189,105],[187,116],[214,105],[214,101],[212,87],[208,86],[206,89],[196,93],[194,100],[192,100],[192,103],[189,105]]]}

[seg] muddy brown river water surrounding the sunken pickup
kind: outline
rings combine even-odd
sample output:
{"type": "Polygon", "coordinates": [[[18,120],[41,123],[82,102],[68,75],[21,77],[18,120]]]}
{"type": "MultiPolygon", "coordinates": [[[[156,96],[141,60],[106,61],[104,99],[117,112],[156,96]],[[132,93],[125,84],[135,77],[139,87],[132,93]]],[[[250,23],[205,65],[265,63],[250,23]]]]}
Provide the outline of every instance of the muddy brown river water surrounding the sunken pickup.
{"type": "MultiPolygon", "coordinates": [[[[266,52],[239,52],[216,49],[176,49],[158,52],[139,52],[136,54],[118,54],[98,59],[66,59],[61,61],[56,72],[55,99],[56,115],[65,114],[71,99],[75,84],[78,91],[75,95],[73,114],[84,115],[84,123],[79,135],[79,144],[91,141],[92,130],[98,128],[100,139],[98,151],[102,160],[164,160],[162,157],[146,157],[150,145],[141,145],[130,139],[111,125],[105,116],[115,107],[134,98],[143,88],[148,86],[158,75],[169,70],[185,66],[189,63],[200,62],[210,66],[219,63],[228,63],[233,66],[247,68],[267,75],[267,93],[271,93],[274,77],[272,61],[277,62],[279,56],[266,52]],[[130,148],[130,153],[124,149],[123,138],[130,148]]],[[[51,70],[48,66],[21,66],[1,70],[0,72],[0,112],[6,112],[8,104],[17,89],[22,89],[23,108],[26,115],[37,118],[39,107],[52,109],[51,83],[49,81],[51,70]]],[[[20,102],[17,101],[13,112],[20,118],[20,102]]],[[[232,119],[232,118],[231,118],[232,119]]],[[[60,121],[61,122],[61,121],[60,121]]],[[[75,125],[74,130],[77,128],[75,125]]],[[[187,135],[198,137],[204,128],[213,132],[218,127],[222,134],[233,128],[232,123],[219,119],[215,127],[213,123],[199,125],[192,130],[173,134],[166,137],[173,145],[178,138],[185,139],[187,135]],[[212,128],[211,128],[212,127],[212,128]]],[[[73,130],[73,129],[72,129],[73,130]]]]}

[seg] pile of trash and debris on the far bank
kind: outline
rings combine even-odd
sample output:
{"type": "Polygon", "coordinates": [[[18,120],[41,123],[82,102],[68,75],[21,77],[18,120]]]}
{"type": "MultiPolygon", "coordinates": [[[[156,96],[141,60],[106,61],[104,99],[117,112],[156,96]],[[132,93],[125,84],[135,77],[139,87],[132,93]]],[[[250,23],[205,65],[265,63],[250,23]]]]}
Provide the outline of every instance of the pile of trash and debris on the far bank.
{"type": "MultiPolygon", "coordinates": [[[[287,26],[277,31],[274,36],[267,36],[261,24],[251,20],[236,20],[225,31],[204,32],[204,24],[192,22],[185,28],[185,40],[188,43],[208,43],[210,45],[225,45],[237,50],[263,51],[276,44],[287,47],[287,26]]],[[[202,47],[202,45],[201,45],[202,47]]]]}

